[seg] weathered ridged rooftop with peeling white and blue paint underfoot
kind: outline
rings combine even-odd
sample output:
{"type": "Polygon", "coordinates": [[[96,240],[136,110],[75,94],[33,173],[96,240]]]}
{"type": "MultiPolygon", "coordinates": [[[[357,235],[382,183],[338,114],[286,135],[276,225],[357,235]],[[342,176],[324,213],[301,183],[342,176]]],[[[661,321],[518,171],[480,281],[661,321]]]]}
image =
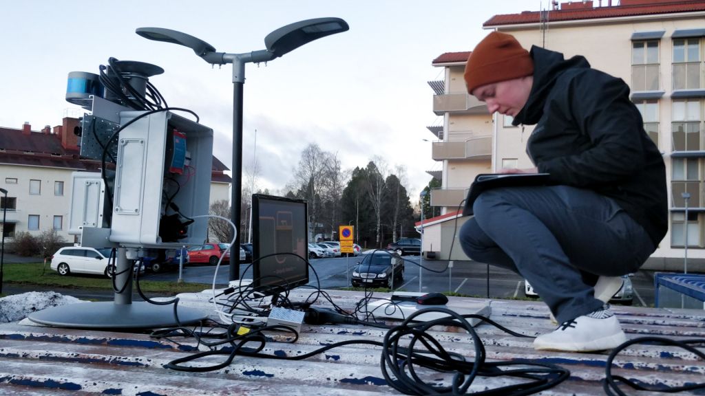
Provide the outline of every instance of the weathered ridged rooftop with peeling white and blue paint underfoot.
{"type": "MultiPolygon", "coordinates": [[[[329,290],[341,307],[353,307],[362,292],[329,290]]],[[[213,305],[203,295],[183,296],[183,305],[204,309],[213,305]]],[[[295,290],[290,299],[303,301],[309,292],[295,290]]],[[[376,293],[375,297],[388,297],[376,293]]],[[[462,309],[489,303],[491,319],[526,335],[553,329],[548,309],[541,302],[450,297],[448,307],[462,309]]],[[[95,304],[95,303],[86,303],[95,304]]],[[[630,339],[658,336],[671,340],[705,340],[705,311],[614,306],[630,339]]],[[[152,338],[146,333],[77,330],[32,326],[25,319],[0,325],[0,393],[32,395],[392,395],[381,371],[381,347],[345,345],[307,359],[275,360],[237,356],[226,364],[227,355],[214,355],[194,365],[223,363],[221,369],[204,373],[181,372],[164,367],[174,359],[189,357],[197,344],[190,338],[152,338]]],[[[541,395],[603,395],[601,380],[606,373],[603,353],[537,352],[531,338],[518,338],[494,326],[475,328],[486,349],[487,361],[555,364],[570,371],[570,377],[541,395]]],[[[384,340],[388,330],[360,325],[304,324],[298,340],[288,333],[267,333],[261,353],[297,357],[333,342],[384,340]]],[[[439,326],[429,331],[443,347],[472,361],[475,345],[466,330],[439,326]]],[[[252,345],[253,347],[255,345],[252,345]]],[[[703,350],[703,345],[700,345],[703,350]]],[[[202,347],[203,349],[203,347],[202,347]]],[[[705,362],[677,347],[636,344],[618,354],[613,374],[646,385],[703,383],[705,362]]],[[[450,375],[418,369],[419,377],[434,384],[448,384],[450,375]]],[[[469,392],[498,388],[516,379],[477,377],[469,392]]],[[[623,388],[628,395],[652,395],[623,388]]],[[[679,395],[703,395],[680,392],[679,395]]]]}

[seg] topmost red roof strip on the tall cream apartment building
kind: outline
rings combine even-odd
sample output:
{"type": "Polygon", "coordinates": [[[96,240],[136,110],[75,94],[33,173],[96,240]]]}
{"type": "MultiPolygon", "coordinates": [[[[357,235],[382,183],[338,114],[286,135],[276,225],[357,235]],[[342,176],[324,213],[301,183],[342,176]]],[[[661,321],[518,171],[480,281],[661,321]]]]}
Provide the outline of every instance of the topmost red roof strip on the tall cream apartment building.
{"type": "MultiPolygon", "coordinates": [[[[615,3],[617,0],[613,0],[615,3]]],[[[606,6],[582,9],[549,10],[548,22],[565,20],[586,20],[600,18],[620,18],[628,16],[646,16],[669,13],[687,13],[705,11],[704,0],[639,0],[624,1],[624,6],[606,6]]],[[[521,25],[524,23],[541,22],[541,11],[524,11],[517,14],[496,15],[487,20],[483,26],[492,27],[499,25],[521,25]]]]}

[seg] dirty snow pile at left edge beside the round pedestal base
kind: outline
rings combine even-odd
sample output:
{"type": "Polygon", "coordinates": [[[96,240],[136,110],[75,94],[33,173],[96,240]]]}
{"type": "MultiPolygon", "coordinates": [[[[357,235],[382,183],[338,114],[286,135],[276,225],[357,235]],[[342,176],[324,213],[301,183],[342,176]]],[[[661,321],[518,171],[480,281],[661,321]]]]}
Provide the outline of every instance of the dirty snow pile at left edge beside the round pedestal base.
{"type": "Polygon", "coordinates": [[[0,323],[21,321],[35,311],[60,305],[75,304],[82,300],[57,292],[26,292],[0,298],[0,323]]]}

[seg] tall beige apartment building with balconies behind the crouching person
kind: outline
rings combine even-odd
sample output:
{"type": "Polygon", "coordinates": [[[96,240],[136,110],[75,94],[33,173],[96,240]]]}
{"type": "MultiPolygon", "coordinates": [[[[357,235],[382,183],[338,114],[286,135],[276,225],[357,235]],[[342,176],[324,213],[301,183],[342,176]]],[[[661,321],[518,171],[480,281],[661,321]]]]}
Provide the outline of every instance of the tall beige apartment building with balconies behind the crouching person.
{"type": "MultiPolygon", "coordinates": [[[[705,271],[705,1],[553,4],[545,11],[497,15],[483,27],[514,35],[527,49],[585,56],[594,68],[630,85],[668,173],[670,227],[646,268],[680,271],[687,251],[689,270],[705,271]]],[[[424,250],[440,259],[467,259],[457,235],[453,243],[453,231],[465,221],[457,218],[458,205],[474,176],[532,166],[525,139],[533,126],[513,127],[509,116],[488,115],[465,91],[469,55],[441,54],[433,65],[444,68],[444,80],[429,82],[434,112],[443,117],[442,128],[429,127],[438,137],[433,158],[443,163],[442,188],[431,191],[431,205],[442,209],[441,216],[424,221],[424,250]]]]}

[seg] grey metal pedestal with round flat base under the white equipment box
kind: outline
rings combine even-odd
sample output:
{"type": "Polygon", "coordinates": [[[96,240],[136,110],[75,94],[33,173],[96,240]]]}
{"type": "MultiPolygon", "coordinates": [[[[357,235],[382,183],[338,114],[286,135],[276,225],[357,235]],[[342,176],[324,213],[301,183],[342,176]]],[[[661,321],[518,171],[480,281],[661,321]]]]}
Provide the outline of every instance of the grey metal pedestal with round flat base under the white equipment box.
{"type": "Polygon", "coordinates": [[[138,330],[164,328],[198,323],[207,315],[187,307],[177,307],[178,323],[173,304],[155,305],[132,301],[133,263],[127,258],[127,249],[118,248],[115,284],[125,285],[115,293],[112,302],[86,302],[51,307],[28,316],[31,321],[62,328],[95,328],[138,330]]]}

